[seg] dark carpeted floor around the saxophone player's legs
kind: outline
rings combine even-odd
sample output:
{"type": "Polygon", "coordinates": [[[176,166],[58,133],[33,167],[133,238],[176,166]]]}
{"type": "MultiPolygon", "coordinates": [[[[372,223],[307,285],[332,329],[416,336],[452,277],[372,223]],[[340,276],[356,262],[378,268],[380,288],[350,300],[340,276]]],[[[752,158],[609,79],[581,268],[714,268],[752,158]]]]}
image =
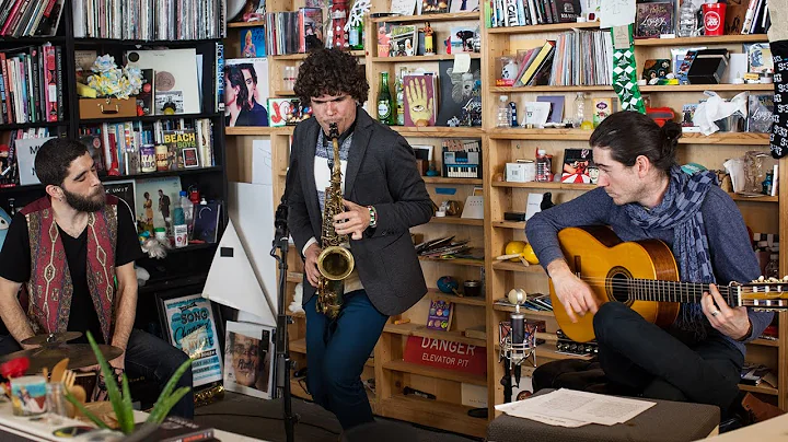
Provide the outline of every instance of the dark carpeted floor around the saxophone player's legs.
{"type": "MultiPolygon", "coordinates": [[[[296,424],[297,442],[337,442],[341,427],[333,414],[321,406],[293,398],[293,412],[300,416],[296,424]]],[[[375,418],[385,424],[390,435],[401,433],[408,442],[473,442],[460,434],[428,429],[393,419],[375,418]]],[[[235,393],[225,393],[222,400],[197,408],[195,421],[219,430],[271,442],[286,442],[282,405],[280,400],[263,400],[235,393]]]]}

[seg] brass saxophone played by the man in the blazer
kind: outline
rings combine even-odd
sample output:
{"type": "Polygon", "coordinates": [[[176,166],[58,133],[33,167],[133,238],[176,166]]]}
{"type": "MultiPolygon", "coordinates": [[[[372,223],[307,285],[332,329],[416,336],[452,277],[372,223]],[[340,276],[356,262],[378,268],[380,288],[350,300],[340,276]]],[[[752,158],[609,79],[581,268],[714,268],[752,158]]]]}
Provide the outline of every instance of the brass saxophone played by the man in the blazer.
{"type": "Polygon", "coordinates": [[[345,278],[354,269],[355,260],[348,244],[347,235],[339,235],[334,229],[334,217],[344,212],[341,195],[341,162],[339,161],[339,129],[335,123],[329,126],[328,137],[334,147],[334,167],[331,184],[325,189],[325,206],[323,209],[323,229],[321,245],[323,252],[317,257],[317,269],[321,272],[317,281],[318,313],[334,319],[339,314],[345,291],[345,278]]]}

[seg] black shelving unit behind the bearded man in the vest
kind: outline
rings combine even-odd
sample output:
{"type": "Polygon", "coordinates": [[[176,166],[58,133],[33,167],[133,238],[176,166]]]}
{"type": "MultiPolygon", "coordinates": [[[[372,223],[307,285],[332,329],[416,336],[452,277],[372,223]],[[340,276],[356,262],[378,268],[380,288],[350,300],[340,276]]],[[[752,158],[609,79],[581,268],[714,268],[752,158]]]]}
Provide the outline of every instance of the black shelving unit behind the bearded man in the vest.
{"type": "MultiPolygon", "coordinates": [[[[108,38],[74,38],[73,30],[73,10],[70,0],[63,3],[62,16],[58,26],[57,35],[53,37],[24,37],[24,38],[0,38],[0,50],[11,50],[24,48],[33,45],[42,45],[46,42],[61,48],[61,88],[63,98],[63,119],[56,123],[25,123],[25,124],[7,124],[0,125],[0,131],[26,129],[26,128],[49,128],[50,136],[68,136],[77,139],[79,130],[83,126],[101,125],[102,123],[119,123],[119,121],[142,121],[152,123],[157,120],[173,119],[195,119],[207,118],[212,124],[213,155],[216,165],[210,167],[186,168],[178,171],[155,172],[147,174],[130,174],[123,176],[104,176],[102,182],[113,183],[127,179],[149,179],[166,176],[179,176],[182,178],[182,188],[188,189],[195,185],[199,188],[201,195],[208,200],[221,200],[223,203],[228,201],[227,193],[227,159],[224,150],[224,123],[223,115],[215,111],[213,90],[216,86],[213,75],[206,74],[199,84],[202,94],[200,100],[200,113],[197,114],[179,114],[179,115],[157,115],[157,116],[134,116],[134,117],[107,117],[107,118],[81,118],[79,113],[79,95],[77,94],[77,66],[74,54],[77,50],[95,50],[101,56],[109,54],[115,57],[117,65],[123,65],[124,53],[132,47],[143,48],[195,48],[196,53],[202,56],[202,71],[212,72],[215,70],[213,62],[216,58],[215,44],[220,39],[200,39],[200,40],[174,40],[174,42],[148,42],[131,39],[108,39],[108,38]]],[[[39,69],[43,69],[39,68],[39,69]]],[[[44,85],[42,85],[44,88],[44,85]]],[[[60,91],[59,91],[60,92],[60,91]]],[[[131,98],[134,100],[134,98],[131,98]]],[[[40,198],[45,195],[43,185],[15,186],[0,188],[0,206],[8,207],[8,199],[14,198],[16,208],[40,198]]],[[[173,201],[174,202],[174,201],[173,201]]],[[[225,206],[227,207],[227,206],[225,206]]],[[[137,209],[139,211],[139,209],[137,209]]],[[[221,237],[224,225],[227,225],[227,210],[222,210],[223,214],[219,223],[218,237],[221,237]]],[[[208,274],[210,264],[213,258],[217,244],[192,244],[185,248],[173,248],[164,259],[143,258],[137,261],[138,266],[148,269],[151,279],[147,287],[140,287],[140,302],[144,305],[153,305],[152,296],[155,292],[164,292],[170,289],[177,289],[183,286],[190,286],[195,281],[195,277],[202,278],[208,274]],[[183,282],[182,281],[185,281],[183,282]],[[143,298],[143,295],[146,298],[143,298]],[[149,304],[150,302],[150,304],[149,304]]],[[[138,317],[143,315],[138,314],[138,317]]],[[[223,337],[220,338],[223,341],[223,337]]]]}

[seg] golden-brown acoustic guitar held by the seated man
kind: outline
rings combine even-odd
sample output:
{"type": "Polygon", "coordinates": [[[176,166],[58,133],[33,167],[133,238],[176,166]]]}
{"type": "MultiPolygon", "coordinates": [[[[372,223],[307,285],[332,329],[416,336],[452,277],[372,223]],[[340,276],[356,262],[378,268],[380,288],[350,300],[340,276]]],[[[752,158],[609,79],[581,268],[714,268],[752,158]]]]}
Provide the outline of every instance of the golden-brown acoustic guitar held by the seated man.
{"type": "MultiPolygon", "coordinates": [[[[676,319],[681,302],[699,302],[708,284],[680,282],[679,266],[670,247],[659,240],[622,242],[605,226],[568,228],[558,232],[569,268],[586,281],[598,305],[623,302],[646,321],[668,327],[676,319]]],[[[730,306],[760,310],[788,307],[788,281],[731,282],[718,287],[730,306]]],[[[556,321],[572,340],[594,339],[593,314],[576,315],[572,323],[549,284],[556,321]]]]}

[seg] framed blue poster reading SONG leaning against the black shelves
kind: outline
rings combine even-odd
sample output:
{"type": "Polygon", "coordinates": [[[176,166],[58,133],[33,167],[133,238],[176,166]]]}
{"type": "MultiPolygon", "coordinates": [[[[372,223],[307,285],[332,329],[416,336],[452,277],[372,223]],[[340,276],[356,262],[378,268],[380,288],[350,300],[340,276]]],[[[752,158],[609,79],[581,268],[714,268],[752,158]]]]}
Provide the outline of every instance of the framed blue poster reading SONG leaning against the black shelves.
{"type": "Polygon", "coordinates": [[[194,386],[222,380],[222,359],[219,342],[221,314],[216,304],[201,294],[166,298],[157,294],[162,335],[183,350],[194,364],[194,386]]]}

